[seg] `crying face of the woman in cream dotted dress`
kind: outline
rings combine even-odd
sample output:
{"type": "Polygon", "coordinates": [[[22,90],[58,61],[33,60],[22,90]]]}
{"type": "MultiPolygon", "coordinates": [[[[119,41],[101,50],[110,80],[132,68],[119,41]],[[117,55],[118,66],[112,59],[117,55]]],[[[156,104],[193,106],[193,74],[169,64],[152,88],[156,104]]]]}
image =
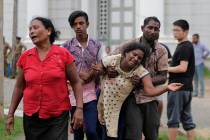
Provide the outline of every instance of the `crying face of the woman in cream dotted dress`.
{"type": "Polygon", "coordinates": [[[139,49],[132,50],[126,53],[125,61],[127,63],[127,67],[129,67],[130,69],[133,69],[134,67],[140,64],[143,57],[144,57],[144,52],[139,49]]]}

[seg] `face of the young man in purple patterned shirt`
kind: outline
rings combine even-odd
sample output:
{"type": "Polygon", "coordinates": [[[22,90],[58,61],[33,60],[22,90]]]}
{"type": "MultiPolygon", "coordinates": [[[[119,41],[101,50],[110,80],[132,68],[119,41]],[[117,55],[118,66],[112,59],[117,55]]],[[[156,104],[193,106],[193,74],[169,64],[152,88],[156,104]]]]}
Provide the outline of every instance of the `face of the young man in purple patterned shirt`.
{"type": "Polygon", "coordinates": [[[77,17],[74,20],[73,29],[77,36],[87,34],[87,28],[89,23],[86,22],[85,17],[77,17]]]}

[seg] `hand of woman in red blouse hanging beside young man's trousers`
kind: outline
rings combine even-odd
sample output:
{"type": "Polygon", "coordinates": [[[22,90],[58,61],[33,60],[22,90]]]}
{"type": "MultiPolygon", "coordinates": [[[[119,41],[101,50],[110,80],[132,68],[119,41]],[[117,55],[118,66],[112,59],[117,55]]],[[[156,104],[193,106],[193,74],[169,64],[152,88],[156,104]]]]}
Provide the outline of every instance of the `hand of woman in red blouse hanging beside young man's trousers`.
{"type": "Polygon", "coordinates": [[[83,125],[83,109],[82,108],[76,108],[71,123],[73,124],[74,130],[82,127],[83,125]]]}

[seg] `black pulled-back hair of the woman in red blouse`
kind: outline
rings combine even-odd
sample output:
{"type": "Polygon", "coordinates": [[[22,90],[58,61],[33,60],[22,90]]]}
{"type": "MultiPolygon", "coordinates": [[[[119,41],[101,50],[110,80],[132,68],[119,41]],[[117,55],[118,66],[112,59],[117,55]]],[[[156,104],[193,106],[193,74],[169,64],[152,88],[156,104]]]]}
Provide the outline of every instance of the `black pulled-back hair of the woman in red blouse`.
{"type": "Polygon", "coordinates": [[[35,17],[33,20],[38,20],[40,21],[44,27],[46,29],[49,29],[51,31],[51,34],[50,34],[50,43],[53,44],[53,42],[55,41],[55,39],[57,38],[57,33],[55,31],[55,27],[52,23],[52,21],[48,18],[44,18],[44,17],[35,17]]]}

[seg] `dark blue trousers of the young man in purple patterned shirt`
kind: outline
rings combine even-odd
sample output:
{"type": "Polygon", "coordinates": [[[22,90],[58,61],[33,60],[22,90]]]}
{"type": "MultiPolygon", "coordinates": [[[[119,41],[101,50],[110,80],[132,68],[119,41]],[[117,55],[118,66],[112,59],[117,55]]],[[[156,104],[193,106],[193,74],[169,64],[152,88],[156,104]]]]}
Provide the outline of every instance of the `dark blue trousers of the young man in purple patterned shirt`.
{"type": "MultiPolygon", "coordinates": [[[[73,116],[76,107],[72,107],[71,116],[73,116]]],[[[74,140],[84,140],[84,133],[86,134],[87,140],[98,140],[96,126],[97,126],[97,101],[91,101],[85,103],[83,106],[84,113],[84,126],[73,130],[74,140]]],[[[72,117],[71,117],[72,118],[72,117]]]]}

